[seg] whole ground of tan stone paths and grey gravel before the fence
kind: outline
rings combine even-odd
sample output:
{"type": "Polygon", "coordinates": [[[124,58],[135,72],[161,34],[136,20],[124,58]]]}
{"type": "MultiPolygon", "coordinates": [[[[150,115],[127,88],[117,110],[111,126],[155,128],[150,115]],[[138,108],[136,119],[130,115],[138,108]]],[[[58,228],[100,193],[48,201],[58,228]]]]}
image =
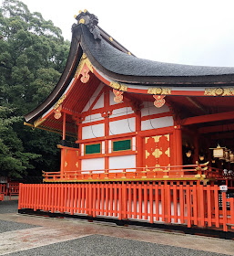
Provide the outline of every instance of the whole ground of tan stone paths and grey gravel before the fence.
{"type": "Polygon", "coordinates": [[[0,255],[234,255],[233,240],[21,215],[16,203],[0,202],[0,255]]]}

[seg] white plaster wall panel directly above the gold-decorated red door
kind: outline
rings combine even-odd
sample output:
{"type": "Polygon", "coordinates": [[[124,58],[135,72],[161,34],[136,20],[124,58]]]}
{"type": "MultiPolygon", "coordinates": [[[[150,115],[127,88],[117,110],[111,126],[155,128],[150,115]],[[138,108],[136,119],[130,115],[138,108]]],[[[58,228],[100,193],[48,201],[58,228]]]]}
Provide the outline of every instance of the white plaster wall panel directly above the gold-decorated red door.
{"type": "Polygon", "coordinates": [[[150,121],[149,120],[142,121],[141,122],[141,131],[158,129],[158,128],[168,127],[168,126],[173,126],[173,125],[174,125],[173,117],[165,116],[165,117],[151,119],[150,121]]]}

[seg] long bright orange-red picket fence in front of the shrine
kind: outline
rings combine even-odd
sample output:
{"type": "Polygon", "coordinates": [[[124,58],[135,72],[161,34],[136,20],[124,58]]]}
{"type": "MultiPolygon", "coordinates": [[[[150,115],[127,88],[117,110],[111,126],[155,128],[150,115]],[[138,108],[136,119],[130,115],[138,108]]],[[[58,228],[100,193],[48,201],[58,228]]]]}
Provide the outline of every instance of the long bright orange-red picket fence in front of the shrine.
{"type": "Polygon", "coordinates": [[[20,184],[18,208],[234,231],[234,198],[219,186],[168,182],[20,184]]]}

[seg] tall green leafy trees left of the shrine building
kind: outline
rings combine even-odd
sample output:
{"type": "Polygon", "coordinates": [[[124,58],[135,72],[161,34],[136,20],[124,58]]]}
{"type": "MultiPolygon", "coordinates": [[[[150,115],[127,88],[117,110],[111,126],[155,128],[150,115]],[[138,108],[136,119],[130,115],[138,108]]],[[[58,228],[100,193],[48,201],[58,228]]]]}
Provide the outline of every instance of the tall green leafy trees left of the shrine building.
{"type": "Polygon", "coordinates": [[[51,20],[21,1],[0,8],[0,176],[59,168],[60,137],[24,127],[23,115],[53,90],[66,65],[68,41],[51,20]],[[14,116],[14,118],[12,117],[14,116]],[[33,153],[33,154],[32,154],[33,153]],[[37,157],[36,157],[37,155],[37,157]],[[6,157],[7,156],[7,157],[6,157]]]}

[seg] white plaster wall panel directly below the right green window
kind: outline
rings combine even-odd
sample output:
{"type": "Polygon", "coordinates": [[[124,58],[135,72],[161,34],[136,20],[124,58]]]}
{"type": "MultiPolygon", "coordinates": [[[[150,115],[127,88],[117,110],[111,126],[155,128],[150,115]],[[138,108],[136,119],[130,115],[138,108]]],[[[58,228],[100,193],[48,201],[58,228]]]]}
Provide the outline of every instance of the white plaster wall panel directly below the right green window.
{"type": "MultiPolygon", "coordinates": [[[[109,157],[109,169],[134,168],[136,167],[136,155],[120,155],[109,157]]],[[[128,170],[130,171],[130,170],[128,170]]],[[[131,170],[135,171],[135,170],[131,170]]],[[[110,172],[117,172],[115,170],[110,172]]]]}

